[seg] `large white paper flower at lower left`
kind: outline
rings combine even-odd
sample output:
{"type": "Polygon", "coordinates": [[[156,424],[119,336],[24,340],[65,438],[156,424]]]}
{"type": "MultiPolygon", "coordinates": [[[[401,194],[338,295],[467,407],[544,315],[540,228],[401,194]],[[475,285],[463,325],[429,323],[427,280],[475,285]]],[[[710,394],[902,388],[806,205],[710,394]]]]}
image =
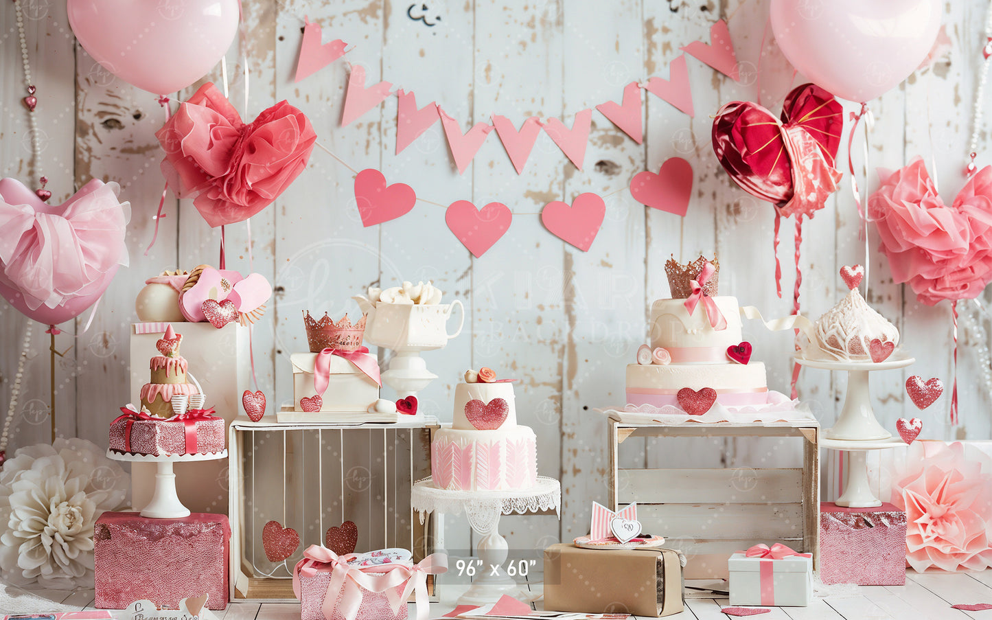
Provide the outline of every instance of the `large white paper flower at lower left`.
{"type": "Polygon", "coordinates": [[[85,439],[22,447],[0,470],[0,571],[17,585],[93,587],[93,525],[130,477],[85,439]]]}

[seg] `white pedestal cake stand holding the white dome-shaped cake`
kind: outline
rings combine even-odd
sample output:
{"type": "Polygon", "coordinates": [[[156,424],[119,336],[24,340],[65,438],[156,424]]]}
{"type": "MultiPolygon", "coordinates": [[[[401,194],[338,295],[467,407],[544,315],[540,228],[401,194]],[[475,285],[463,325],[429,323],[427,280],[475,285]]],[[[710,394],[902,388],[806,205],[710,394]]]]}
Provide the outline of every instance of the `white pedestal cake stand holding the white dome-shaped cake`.
{"type": "Polygon", "coordinates": [[[875,370],[905,368],[915,361],[916,359],[907,355],[900,355],[898,352],[893,353],[889,359],[878,363],[806,359],[797,355],[796,363],[802,366],[830,371],[847,371],[847,396],[844,398],[844,408],[833,427],[823,431],[823,437],[844,441],[869,441],[891,437],[892,434],[878,424],[878,420],[875,419],[868,388],[868,373],[875,370]]]}

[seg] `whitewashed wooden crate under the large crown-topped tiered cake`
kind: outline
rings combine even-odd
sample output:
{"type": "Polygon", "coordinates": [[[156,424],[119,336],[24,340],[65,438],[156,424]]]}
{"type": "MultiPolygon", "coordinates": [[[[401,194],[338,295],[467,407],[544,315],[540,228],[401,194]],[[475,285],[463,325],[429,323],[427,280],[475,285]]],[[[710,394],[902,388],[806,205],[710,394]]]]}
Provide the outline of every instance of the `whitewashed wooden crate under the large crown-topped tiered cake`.
{"type": "Polygon", "coordinates": [[[665,536],[689,557],[686,578],[726,578],[727,558],[757,543],[782,543],[811,553],[818,564],[819,425],[638,425],[609,421],[610,503],[637,502],[645,532],[665,536]],[[803,466],[620,468],[620,444],[630,437],[796,437],[803,466]]]}

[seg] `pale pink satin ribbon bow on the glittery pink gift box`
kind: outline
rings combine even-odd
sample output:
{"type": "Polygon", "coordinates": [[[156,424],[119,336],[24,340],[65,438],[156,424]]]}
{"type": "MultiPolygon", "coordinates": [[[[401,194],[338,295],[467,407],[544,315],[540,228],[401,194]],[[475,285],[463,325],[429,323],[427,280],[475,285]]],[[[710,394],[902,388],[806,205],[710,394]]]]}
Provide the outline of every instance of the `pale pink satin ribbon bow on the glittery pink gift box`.
{"type": "Polygon", "coordinates": [[[300,578],[312,577],[318,572],[330,572],[330,582],[323,597],[323,615],[330,618],[340,596],[340,611],[345,620],[355,620],[362,604],[363,591],[384,592],[393,606],[393,613],[400,609],[410,594],[414,593],[417,607],[417,620],[427,620],[430,601],[428,600],[428,573],[440,574],[447,570],[447,556],[432,554],[413,566],[403,563],[386,563],[375,566],[350,566],[350,556],[338,556],[329,549],[310,545],[304,558],[297,562],[293,570],[293,591],[301,597],[300,578]],[[403,592],[397,595],[400,585],[406,584],[403,592]]]}

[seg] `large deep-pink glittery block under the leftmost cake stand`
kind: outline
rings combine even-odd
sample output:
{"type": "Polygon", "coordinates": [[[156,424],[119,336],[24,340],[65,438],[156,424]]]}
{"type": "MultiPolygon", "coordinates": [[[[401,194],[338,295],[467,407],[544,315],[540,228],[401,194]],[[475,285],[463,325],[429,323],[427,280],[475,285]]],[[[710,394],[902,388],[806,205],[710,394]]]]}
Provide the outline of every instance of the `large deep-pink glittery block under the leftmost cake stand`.
{"type": "Polygon", "coordinates": [[[205,593],[207,607],[223,609],[230,537],[224,515],[148,519],[103,513],[93,530],[96,607],[124,609],[147,599],[176,609],[184,598],[205,593]]]}

